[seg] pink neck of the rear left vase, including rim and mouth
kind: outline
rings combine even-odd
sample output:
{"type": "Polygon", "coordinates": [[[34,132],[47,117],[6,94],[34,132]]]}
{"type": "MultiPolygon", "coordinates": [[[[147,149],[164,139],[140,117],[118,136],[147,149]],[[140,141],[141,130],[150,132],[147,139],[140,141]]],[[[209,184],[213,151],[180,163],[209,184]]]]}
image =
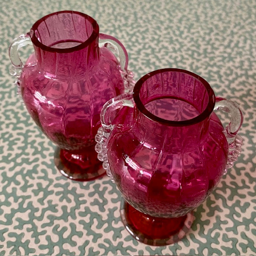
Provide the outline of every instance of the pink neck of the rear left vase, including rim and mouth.
{"type": "Polygon", "coordinates": [[[97,22],[74,11],[55,12],[30,30],[38,68],[49,76],[83,74],[99,60],[97,22]]]}

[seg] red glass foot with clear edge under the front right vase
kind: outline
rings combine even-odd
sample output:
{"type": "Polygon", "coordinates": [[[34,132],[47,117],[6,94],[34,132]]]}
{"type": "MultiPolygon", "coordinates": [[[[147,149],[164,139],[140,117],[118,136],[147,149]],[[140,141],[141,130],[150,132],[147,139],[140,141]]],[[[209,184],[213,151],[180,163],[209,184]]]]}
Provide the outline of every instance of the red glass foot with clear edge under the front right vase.
{"type": "Polygon", "coordinates": [[[138,241],[154,246],[181,240],[194,221],[193,212],[178,218],[159,218],[144,214],[122,200],[120,214],[128,232],[138,241]]]}

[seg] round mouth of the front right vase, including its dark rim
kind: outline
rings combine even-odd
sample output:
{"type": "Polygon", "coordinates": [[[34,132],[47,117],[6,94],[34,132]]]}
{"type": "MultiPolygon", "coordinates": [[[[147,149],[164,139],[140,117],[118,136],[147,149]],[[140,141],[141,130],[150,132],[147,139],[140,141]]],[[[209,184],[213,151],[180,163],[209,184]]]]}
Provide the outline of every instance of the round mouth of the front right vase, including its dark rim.
{"type": "Polygon", "coordinates": [[[136,82],[136,108],[144,116],[168,126],[188,126],[208,118],[215,95],[204,78],[190,71],[165,68],[152,71],[136,82]]]}

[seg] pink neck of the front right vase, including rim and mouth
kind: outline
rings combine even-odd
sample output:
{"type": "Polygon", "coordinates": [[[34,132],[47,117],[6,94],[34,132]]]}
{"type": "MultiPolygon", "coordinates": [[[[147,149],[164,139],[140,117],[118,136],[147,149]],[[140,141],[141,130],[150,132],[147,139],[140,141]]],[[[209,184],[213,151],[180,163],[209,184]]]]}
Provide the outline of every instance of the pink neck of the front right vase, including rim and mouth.
{"type": "Polygon", "coordinates": [[[134,127],[140,140],[171,152],[191,148],[202,139],[215,103],[206,80],[176,68],[155,70],[140,78],[133,99],[134,127]]]}

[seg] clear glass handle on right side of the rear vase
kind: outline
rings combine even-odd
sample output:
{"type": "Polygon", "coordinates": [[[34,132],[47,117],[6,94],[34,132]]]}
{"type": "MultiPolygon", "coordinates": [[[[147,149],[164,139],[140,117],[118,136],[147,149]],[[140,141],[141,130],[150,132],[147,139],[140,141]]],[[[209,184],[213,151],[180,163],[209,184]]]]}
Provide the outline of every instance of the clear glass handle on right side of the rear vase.
{"type": "Polygon", "coordinates": [[[128,70],[128,53],[123,44],[113,36],[100,33],[99,46],[108,48],[116,56],[119,61],[120,74],[124,80],[125,92],[132,91],[135,84],[134,74],[128,70]]]}

